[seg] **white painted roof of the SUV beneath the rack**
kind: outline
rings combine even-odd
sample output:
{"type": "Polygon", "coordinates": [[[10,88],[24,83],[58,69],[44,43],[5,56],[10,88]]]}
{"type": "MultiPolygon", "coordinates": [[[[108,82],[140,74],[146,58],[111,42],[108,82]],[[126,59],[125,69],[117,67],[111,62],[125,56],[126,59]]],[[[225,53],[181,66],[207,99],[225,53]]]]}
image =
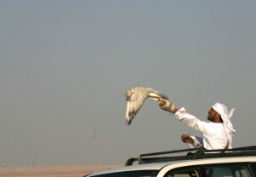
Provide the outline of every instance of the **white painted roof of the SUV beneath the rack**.
{"type": "MultiPolygon", "coordinates": [[[[102,170],[93,174],[88,175],[95,176],[99,174],[111,174],[117,172],[125,171],[137,171],[137,170],[160,170],[161,168],[179,168],[186,166],[194,166],[201,164],[214,164],[214,163],[243,163],[243,162],[256,162],[256,157],[218,157],[218,158],[208,158],[208,159],[195,159],[195,160],[182,160],[182,161],[172,161],[165,163],[147,163],[147,164],[137,164],[132,166],[125,166],[119,168],[110,168],[102,170]]],[[[164,170],[165,171],[165,170],[164,170]]],[[[162,173],[164,173],[164,171],[162,173]]]]}

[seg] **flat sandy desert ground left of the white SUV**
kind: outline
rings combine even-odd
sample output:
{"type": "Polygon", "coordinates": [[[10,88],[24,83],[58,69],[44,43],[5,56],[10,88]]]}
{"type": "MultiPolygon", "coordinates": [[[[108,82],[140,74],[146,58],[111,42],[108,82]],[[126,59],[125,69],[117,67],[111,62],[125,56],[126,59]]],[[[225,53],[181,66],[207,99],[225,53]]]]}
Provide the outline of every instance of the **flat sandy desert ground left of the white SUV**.
{"type": "Polygon", "coordinates": [[[102,169],[120,167],[120,165],[73,165],[73,166],[36,166],[36,167],[0,167],[2,177],[82,177],[102,169]]]}

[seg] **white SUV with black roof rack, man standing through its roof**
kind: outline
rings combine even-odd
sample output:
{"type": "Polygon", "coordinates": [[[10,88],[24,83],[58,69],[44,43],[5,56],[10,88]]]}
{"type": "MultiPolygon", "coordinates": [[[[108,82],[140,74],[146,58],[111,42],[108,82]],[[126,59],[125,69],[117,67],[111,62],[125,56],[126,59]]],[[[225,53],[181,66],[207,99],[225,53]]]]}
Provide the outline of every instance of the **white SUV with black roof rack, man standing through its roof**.
{"type": "Polygon", "coordinates": [[[125,167],[88,174],[86,177],[256,177],[256,146],[207,151],[189,149],[142,154],[129,159],[125,167]],[[159,155],[189,151],[185,156],[159,155]],[[193,153],[195,151],[195,153],[193,153]],[[157,157],[152,157],[157,156],[157,157]],[[132,165],[135,161],[139,164],[132,165]]]}

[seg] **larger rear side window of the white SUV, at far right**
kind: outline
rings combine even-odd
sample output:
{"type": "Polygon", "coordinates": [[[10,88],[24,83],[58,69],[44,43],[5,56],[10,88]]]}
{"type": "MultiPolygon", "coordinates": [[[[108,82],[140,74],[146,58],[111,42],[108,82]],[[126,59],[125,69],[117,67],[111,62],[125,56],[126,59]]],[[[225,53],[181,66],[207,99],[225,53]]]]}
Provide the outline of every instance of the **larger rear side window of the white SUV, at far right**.
{"type": "Polygon", "coordinates": [[[221,164],[205,167],[208,177],[250,177],[253,176],[248,164],[221,164]]]}

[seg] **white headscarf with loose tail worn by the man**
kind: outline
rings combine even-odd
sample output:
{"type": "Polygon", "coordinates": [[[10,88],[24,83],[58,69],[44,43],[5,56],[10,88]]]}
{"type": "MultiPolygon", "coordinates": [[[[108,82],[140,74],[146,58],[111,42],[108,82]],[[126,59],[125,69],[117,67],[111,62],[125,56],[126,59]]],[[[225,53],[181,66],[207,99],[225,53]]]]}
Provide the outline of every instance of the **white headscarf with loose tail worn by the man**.
{"type": "Polygon", "coordinates": [[[233,125],[230,122],[230,117],[232,117],[233,112],[235,111],[235,108],[233,108],[230,111],[230,113],[228,112],[227,106],[225,106],[224,104],[221,104],[221,103],[215,103],[212,106],[212,108],[220,114],[220,116],[223,120],[223,124],[224,124],[226,134],[227,134],[228,139],[230,141],[230,146],[231,146],[232,137],[233,137],[233,134],[235,134],[236,130],[233,128],[233,125]]]}

